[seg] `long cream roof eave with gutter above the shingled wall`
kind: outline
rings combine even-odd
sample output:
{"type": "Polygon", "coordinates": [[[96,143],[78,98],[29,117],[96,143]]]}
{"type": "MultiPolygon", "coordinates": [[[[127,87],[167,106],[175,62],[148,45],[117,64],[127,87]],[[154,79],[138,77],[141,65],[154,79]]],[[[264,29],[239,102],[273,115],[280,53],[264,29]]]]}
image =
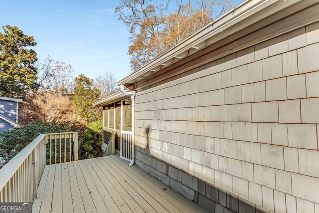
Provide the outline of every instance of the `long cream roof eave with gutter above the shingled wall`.
{"type": "Polygon", "coordinates": [[[154,58],[140,69],[118,81],[117,84],[129,85],[139,81],[299,1],[301,0],[246,0],[173,48],[154,58]],[[258,15],[250,18],[255,13],[258,15]]]}

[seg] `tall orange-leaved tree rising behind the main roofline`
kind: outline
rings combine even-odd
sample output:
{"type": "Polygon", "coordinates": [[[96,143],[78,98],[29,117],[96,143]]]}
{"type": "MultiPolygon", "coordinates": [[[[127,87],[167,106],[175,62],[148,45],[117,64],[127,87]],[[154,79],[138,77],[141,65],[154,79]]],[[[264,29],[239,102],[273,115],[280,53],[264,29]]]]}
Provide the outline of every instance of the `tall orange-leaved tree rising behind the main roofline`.
{"type": "Polygon", "coordinates": [[[121,0],[115,12],[131,33],[131,68],[137,70],[231,8],[231,0],[121,0]],[[173,12],[170,12],[173,11],[173,12]]]}

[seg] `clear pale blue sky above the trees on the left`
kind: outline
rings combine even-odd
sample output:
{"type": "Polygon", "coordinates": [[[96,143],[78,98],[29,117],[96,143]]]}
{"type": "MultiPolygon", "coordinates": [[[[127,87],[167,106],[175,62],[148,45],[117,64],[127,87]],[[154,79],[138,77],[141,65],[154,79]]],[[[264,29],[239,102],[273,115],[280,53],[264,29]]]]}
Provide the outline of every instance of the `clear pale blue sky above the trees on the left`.
{"type": "MultiPolygon", "coordinates": [[[[238,4],[242,0],[235,0],[238,4]]],[[[0,26],[33,35],[38,58],[50,54],[90,78],[109,71],[130,73],[129,32],[118,20],[118,0],[0,0],[0,26]]]]}

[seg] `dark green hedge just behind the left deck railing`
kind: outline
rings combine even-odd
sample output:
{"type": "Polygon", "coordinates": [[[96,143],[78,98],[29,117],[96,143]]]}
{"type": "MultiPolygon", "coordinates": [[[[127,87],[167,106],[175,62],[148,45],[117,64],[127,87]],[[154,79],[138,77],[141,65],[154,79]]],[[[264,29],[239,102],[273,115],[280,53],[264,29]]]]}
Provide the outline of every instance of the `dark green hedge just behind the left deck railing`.
{"type": "Polygon", "coordinates": [[[9,161],[40,134],[58,132],[71,132],[71,128],[68,124],[36,122],[3,131],[0,133],[0,157],[9,161]]]}

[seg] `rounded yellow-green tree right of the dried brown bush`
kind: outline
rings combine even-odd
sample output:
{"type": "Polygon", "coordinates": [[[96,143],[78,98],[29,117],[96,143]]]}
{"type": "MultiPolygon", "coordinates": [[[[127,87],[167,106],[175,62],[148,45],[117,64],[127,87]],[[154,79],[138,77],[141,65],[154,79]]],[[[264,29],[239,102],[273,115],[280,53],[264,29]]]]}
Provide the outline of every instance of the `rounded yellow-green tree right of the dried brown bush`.
{"type": "Polygon", "coordinates": [[[102,112],[92,104],[99,100],[101,91],[93,87],[93,80],[80,74],[75,78],[73,104],[77,107],[78,114],[87,121],[101,119],[102,112]]]}

